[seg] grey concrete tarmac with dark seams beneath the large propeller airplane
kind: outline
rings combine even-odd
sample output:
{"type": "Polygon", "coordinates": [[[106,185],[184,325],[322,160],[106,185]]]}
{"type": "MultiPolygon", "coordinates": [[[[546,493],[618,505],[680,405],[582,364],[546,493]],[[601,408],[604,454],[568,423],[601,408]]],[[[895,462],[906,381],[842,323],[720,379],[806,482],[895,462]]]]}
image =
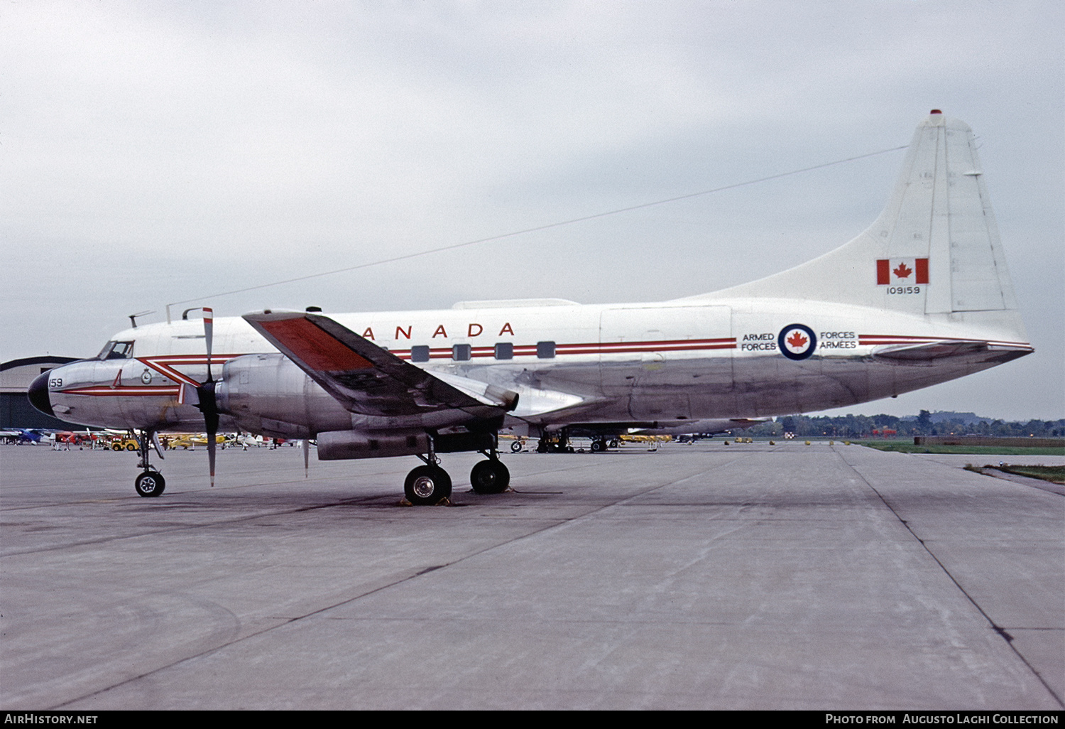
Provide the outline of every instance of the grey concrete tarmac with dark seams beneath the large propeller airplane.
{"type": "Polygon", "coordinates": [[[142,499],[135,454],[0,448],[0,708],[1065,706],[1065,497],[958,458],[506,454],[482,497],[455,454],[402,507],[414,458],[218,455],[142,499]]]}

